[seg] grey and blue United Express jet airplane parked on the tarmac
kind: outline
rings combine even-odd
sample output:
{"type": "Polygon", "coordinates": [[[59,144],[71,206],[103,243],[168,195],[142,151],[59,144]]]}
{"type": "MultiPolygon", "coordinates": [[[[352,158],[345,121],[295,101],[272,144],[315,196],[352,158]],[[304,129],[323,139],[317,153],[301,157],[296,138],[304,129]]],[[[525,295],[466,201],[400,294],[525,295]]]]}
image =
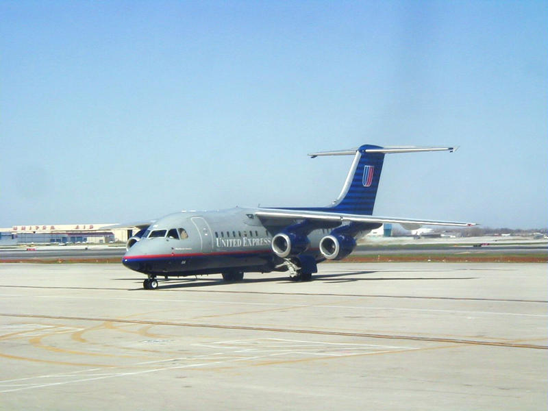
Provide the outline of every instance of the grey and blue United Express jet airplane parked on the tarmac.
{"type": "MultiPolygon", "coordinates": [[[[219,274],[239,282],[244,273],[288,271],[296,281],[310,281],[317,264],[342,260],[356,240],[386,223],[406,229],[421,225],[470,227],[475,223],[373,216],[384,155],[449,151],[458,147],[379,147],[310,153],[353,155],[340,195],[327,207],[232,208],[169,214],[132,224],[122,263],[147,275],[143,288],[158,288],[157,277],[219,274]]],[[[119,225],[121,226],[121,225],[119,225]]],[[[129,225],[125,225],[129,227],[129,225]]]]}

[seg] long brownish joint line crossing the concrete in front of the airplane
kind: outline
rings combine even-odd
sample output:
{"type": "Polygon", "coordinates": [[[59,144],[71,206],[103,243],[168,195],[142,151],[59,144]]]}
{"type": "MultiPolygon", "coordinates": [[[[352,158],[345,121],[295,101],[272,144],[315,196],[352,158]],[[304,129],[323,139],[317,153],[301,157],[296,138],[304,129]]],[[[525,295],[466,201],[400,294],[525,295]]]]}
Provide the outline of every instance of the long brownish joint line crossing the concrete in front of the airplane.
{"type": "Polygon", "coordinates": [[[392,340],[415,340],[415,341],[429,341],[429,342],[435,342],[435,343],[453,343],[453,344],[463,344],[463,345],[489,345],[489,346],[495,346],[495,347],[509,347],[509,348],[511,347],[511,348],[529,348],[529,349],[548,349],[548,346],[546,345],[501,343],[497,341],[488,341],[488,340],[465,340],[460,338],[440,338],[440,337],[425,337],[425,336],[406,336],[406,335],[395,335],[395,334],[320,331],[320,330],[314,330],[314,329],[290,329],[290,328],[285,329],[285,328],[275,328],[275,327],[252,327],[252,326],[245,326],[245,325],[175,323],[171,321],[106,319],[106,318],[90,318],[90,317],[79,317],[79,316],[53,316],[53,315],[45,315],[45,314],[0,313],[0,316],[10,316],[10,317],[18,317],[18,318],[76,320],[76,321],[112,321],[113,323],[152,324],[152,325],[167,325],[167,326],[175,326],[175,327],[241,329],[241,330],[249,330],[249,331],[282,332],[282,333],[294,333],[294,334],[315,334],[315,335],[348,336],[348,337],[361,337],[361,338],[384,338],[384,339],[392,339],[392,340]]]}

